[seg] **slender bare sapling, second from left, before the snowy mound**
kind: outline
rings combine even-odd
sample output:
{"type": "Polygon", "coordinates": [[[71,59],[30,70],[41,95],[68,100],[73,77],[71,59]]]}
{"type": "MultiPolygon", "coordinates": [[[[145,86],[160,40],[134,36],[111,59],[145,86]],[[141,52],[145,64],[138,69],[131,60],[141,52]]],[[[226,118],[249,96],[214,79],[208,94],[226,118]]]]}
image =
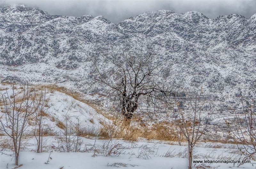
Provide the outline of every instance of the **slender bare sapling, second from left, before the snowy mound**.
{"type": "MultiPolygon", "coordinates": [[[[36,92],[35,92],[36,96],[36,92]]],[[[44,116],[46,115],[50,106],[48,105],[49,99],[46,98],[46,88],[41,89],[39,97],[35,97],[37,111],[34,113],[34,117],[36,120],[34,136],[37,142],[36,152],[42,152],[42,144],[43,144],[43,128],[44,124],[42,123],[44,120],[44,116]]]]}

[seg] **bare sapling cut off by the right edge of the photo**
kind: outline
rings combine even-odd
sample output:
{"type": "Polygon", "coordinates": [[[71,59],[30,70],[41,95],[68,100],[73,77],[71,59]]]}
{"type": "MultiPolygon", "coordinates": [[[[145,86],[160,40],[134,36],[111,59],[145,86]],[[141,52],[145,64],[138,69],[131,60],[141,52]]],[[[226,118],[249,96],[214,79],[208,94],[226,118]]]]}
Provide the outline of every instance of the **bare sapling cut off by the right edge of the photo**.
{"type": "MultiPolygon", "coordinates": [[[[253,100],[255,102],[256,100],[253,100]]],[[[226,121],[228,127],[230,128],[229,134],[235,136],[235,140],[238,145],[239,150],[244,155],[245,159],[256,159],[256,111],[252,100],[245,101],[242,98],[242,111],[235,112],[235,120],[232,122],[226,121]],[[245,104],[244,104],[245,103],[245,104]]],[[[245,160],[244,159],[244,160],[245,160]]]]}

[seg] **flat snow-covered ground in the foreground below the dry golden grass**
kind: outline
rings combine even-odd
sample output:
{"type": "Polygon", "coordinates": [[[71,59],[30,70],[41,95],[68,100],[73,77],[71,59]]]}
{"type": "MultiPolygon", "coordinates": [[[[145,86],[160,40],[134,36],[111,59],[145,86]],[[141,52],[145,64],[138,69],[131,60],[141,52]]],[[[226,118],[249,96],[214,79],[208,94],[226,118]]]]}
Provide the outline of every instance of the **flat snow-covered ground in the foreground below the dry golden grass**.
{"type": "MultiPolygon", "coordinates": [[[[21,168],[25,169],[107,169],[107,168],[138,168],[138,169],[185,169],[188,165],[188,159],[186,156],[186,146],[164,144],[158,141],[140,141],[131,142],[123,140],[112,140],[110,144],[119,144],[122,149],[117,154],[114,152],[110,155],[103,152],[103,145],[108,143],[109,140],[96,140],[93,150],[89,152],[49,152],[36,153],[33,152],[35,148],[34,138],[28,138],[28,146],[26,150],[23,150],[20,154],[20,164],[23,164],[21,168]],[[141,154],[141,151],[144,153],[141,154]],[[145,156],[147,154],[147,156],[145,156]],[[45,164],[49,155],[49,164],[45,164]],[[114,165],[115,166],[111,166],[114,165]],[[119,163],[119,164],[117,164],[119,163]],[[126,165],[126,167],[122,166],[126,165]]],[[[56,145],[56,139],[54,137],[45,137],[47,143],[50,145],[56,145]],[[50,144],[52,143],[52,144],[50,144]]],[[[88,148],[94,144],[95,140],[84,138],[84,143],[88,145],[88,148]]],[[[185,143],[184,143],[185,145],[185,143]]],[[[219,143],[200,143],[194,150],[195,159],[218,159],[218,160],[236,160],[239,158],[239,154],[236,152],[236,146],[232,144],[219,144],[219,143]],[[214,146],[223,148],[211,148],[214,146]],[[236,153],[235,153],[236,152],[236,153]]],[[[107,152],[107,151],[106,151],[107,152]]],[[[7,154],[12,152],[5,151],[7,154]]],[[[14,167],[13,156],[0,155],[0,168],[14,167]]],[[[253,162],[253,161],[251,161],[253,162]]],[[[195,164],[199,166],[200,164],[195,164]]],[[[209,164],[206,164],[209,166],[209,164]]],[[[237,168],[237,164],[210,164],[211,167],[217,167],[220,169],[237,168]]],[[[244,164],[239,168],[254,168],[252,164],[244,164]]]]}

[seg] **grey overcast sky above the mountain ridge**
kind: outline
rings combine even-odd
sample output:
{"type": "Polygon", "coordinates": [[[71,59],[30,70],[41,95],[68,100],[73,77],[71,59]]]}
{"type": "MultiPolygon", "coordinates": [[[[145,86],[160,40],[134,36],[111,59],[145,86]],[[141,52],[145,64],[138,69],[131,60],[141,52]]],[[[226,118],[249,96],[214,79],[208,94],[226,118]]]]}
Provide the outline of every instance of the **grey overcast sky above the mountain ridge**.
{"type": "Polygon", "coordinates": [[[79,17],[82,15],[102,15],[114,23],[118,23],[131,16],[142,14],[146,11],[172,10],[176,13],[187,11],[202,12],[208,18],[231,13],[241,14],[250,18],[256,13],[256,0],[228,0],[228,1],[5,1],[1,4],[27,4],[40,8],[51,15],[67,15],[79,17]]]}

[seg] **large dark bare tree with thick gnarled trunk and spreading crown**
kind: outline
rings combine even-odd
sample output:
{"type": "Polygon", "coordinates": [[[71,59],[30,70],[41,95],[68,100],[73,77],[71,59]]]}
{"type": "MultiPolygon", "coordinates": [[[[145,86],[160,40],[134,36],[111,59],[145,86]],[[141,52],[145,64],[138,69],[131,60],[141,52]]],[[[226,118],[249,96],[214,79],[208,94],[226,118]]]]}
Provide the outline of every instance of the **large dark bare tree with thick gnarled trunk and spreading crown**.
{"type": "Polygon", "coordinates": [[[124,116],[128,125],[139,107],[140,113],[152,112],[159,95],[172,92],[163,85],[163,62],[159,60],[158,49],[152,46],[120,47],[91,58],[92,84],[108,96],[111,107],[124,116]]]}

